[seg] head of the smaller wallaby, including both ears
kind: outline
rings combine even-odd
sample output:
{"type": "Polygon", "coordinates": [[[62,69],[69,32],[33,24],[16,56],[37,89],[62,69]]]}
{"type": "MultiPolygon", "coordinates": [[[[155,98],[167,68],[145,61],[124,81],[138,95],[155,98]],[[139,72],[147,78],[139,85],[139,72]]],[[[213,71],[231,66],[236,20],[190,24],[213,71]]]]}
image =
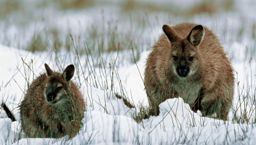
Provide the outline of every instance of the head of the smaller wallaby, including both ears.
{"type": "Polygon", "coordinates": [[[61,102],[62,99],[66,99],[67,89],[69,87],[67,85],[69,85],[75,72],[73,64],[67,66],[62,74],[53,72],[46,63],[45,70],[47,72],[47,79],[45,82],[44,96],[47,102],[56,104],[61,102]]]}

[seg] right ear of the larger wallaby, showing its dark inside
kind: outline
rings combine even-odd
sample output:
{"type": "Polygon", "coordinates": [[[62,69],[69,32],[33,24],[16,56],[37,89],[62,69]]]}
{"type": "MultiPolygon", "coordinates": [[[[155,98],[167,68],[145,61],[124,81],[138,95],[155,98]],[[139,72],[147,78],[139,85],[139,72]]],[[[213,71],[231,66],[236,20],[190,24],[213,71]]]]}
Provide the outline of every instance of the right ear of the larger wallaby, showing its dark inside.
{"type": "Polygon", "coordinates": [[[192,28],[187,40],[194,46],[197,46],[204,36],[204,28],[202,25],[192,28]]]}

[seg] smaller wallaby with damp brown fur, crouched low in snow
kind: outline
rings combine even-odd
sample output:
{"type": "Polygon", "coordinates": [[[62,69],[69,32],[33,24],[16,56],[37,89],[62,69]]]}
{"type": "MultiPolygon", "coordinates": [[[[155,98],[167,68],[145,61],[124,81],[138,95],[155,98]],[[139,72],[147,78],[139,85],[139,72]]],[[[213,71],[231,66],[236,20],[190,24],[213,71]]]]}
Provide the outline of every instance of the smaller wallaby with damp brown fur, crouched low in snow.
{"type": "Polygon", "coordinates": [[[30,84],[20,104],[21,128],[27,137],[73,137],[82,125],[86,106],[71,78],[73,64],[64,72],[53,72],[45,63],[47,73],[30,84]]]}

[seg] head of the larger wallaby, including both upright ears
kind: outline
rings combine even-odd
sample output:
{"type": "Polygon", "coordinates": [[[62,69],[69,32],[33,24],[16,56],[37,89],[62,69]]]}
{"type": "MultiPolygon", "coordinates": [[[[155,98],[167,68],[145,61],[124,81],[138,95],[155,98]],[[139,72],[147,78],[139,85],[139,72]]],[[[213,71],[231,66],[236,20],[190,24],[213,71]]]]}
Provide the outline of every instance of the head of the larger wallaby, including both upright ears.
{"type": "Polygon", "coordinates": [[[200,57],[197,46],[204,37],[202,25],[192,28],[189,35],[183,39],[168,25],[163,25],[163,32],[167,35],[172,46],[170,52],[170,65],[172,72],[181,78],[190,77],[200,68],[200,57]]]}

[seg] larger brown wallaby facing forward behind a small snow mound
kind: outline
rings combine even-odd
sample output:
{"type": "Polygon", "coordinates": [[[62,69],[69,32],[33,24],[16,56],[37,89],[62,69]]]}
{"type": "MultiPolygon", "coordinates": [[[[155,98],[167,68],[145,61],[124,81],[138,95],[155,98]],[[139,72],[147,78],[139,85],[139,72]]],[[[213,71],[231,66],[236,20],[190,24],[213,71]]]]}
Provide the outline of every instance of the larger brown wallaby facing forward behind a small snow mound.
{"type": "Polygon", "coordinates": [[[234,76],[218,38],[191,23],[164,25],[163,31],[145,68],[145,89],[154,115],[159,115],[159,104],[165,99],[181,97],[191,110],[227,120],[234,76]]]}

